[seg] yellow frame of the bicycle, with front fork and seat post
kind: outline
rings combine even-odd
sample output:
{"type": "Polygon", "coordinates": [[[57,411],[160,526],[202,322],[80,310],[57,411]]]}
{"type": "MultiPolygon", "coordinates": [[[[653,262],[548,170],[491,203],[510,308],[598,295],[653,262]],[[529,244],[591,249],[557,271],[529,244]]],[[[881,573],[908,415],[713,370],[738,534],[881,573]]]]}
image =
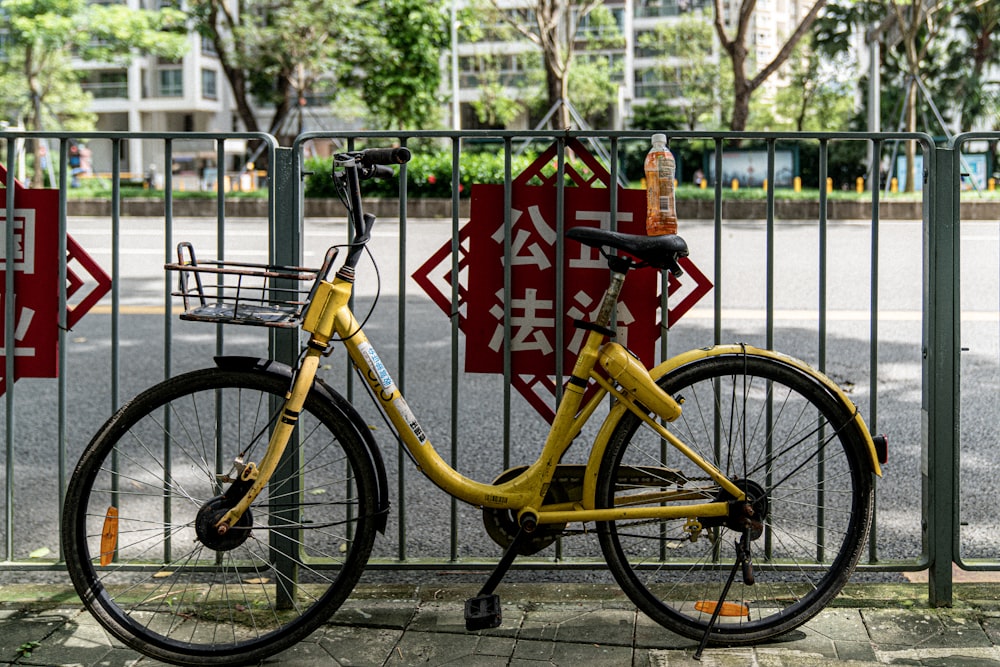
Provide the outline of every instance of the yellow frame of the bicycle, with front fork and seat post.
{"type": "MultiPolygon", "coordinates": [[[[281,458],[288,437],[295,426],[298,413],[312,387],[320,358],[329,348],[334,337],[347,348],[352,362],[361,370],[361,374],[371,388],[372,395],[389,418],[394,430],[413,456],[421,472],[445,493],[455,498],[478,507],[515,510],[519,517],[529,513],[537,523],[542,524],[727,516],[729,504],[726,502],[671,505],[671,501],[689,499],[683,496],[684,493],[689,492],[676,490],[648,491],[641,497],[641,500],[648,502],[651,506],[597,509],[595,507],[595,492],[598,469],[606,440],[599,441],[601,442],[600,446],[595,446],[591,450],[584,473],[582,501],[550,505],[543,503],[549,483],[563,454],[608,394],[638,415],[664,440],[704,470],[708,477],[732,496],[733,500],[742,501],[746,497],[743,490],[729,480],[716,466],[685,445],[677,436],[661,425],[658,419],[650,417],[648,411],[640,407],[629,393],[616,387],[613,382],[596,370],[599,360],[606,360],[612,352],[624,351],[624,348],[614,343],[604,345],[606,326],[611,320],[611,314],[617,303],[623,282],[623,273],[612,273],[611,286],[604,295],[596,326],[588,332],[577,357],[572,379],[566,386],[566,392],[559,404],[555,420],[540,456],[517,477],[494,485],[477,482],[463,476],[448,465],[434,449],[430,439],[413,415],[405,398],[396,387],[391,375],[350,309],[353,270],[345,272],[341,269],[332,282],[321,281],[303,316],[302,328],[311,334],[308,348],[275,425],[267,452],[260,464],[255,467],[247,467],[247,470],[250,471],[250,477],[246,481],[252,482],[252,486],[240,503],[220,521],[220,529],[224,530],[223,524],[234,525],[266,485],[281,458]],[[587,386],[587,381],[583,378],[593,379],[599,386],[595,395],[586,403],[584,403],[584,389],[587,386]]],[[[627,353],[625,354],[627,355],[627,353]]],[[[653,384],[645,368],[642,368],[641,372],[646,375],[648,383],[653,384]]],[[[672,405],[665,406],[664,412],[667,414],[664,416],[674,419],[680,414],[680,406],[672,398],[665,393],[659,398],[672,403],[672,405]]],[[[647,399],[646,402],[651,400],[647,399]]],[[[636,496],[632,496],[630,502],[635,503],[638,499],[636,496]]]]}

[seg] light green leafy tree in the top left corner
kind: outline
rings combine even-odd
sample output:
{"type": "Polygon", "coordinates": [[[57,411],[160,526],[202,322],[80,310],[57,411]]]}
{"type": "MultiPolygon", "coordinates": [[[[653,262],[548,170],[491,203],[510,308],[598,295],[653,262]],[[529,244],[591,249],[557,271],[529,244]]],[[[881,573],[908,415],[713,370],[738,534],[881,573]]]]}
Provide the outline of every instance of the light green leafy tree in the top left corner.
{"type": "MultiPolygon", "coordinates": [[[[86,0],[0,0],[7,67],[0,77],[8,117],[29,130],[92,129],[89,97],[73,58],[127,64],[135,53],[178,58],[187,48],[183,15],[86,0]]],[[[37,148],[36,148],[37,150],[37,148]]],[[[35,164],[41,182],[41,161],[35,164]]]]}

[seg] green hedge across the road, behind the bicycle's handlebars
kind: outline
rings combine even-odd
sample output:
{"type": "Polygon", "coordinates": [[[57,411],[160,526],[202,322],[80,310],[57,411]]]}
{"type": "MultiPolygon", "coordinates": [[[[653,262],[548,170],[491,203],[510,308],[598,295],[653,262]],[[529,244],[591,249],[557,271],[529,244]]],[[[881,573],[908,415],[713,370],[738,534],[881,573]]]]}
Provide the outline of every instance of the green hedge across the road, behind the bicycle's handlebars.
{"type": "MultiPolygon", "coordinates": [[[[534,154],[524,153],[514,156],[513,174],[516,176],[534,161],[534,154]]],[[[310,158],[306,160],[306,197],[336,197],[330,172],[333,161],[330,158],[310,158]]],[[[468,197],[473,184],[503,183],[503,151],[467,152],[461,156],[459,165],[459,196],[468,197]]],[[[395,179],[367,181],[362,192],[370,197],[396,197],[399,195],[395,179]]],[[[408,197],[444,197],[452,195],[451,151],[415,152],[406,165],[406,194],[408,197]]]]}

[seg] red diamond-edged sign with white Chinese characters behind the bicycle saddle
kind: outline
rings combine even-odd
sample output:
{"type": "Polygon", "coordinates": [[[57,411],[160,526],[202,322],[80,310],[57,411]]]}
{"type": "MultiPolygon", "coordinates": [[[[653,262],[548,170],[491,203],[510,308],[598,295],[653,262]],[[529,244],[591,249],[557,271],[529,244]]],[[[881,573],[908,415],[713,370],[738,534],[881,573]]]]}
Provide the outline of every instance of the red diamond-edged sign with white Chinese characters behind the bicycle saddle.
{"type": "MultiPolygon", "coordinates": [[[[576,140],[564,161],[567,187],[563,197],[564,228],[611,227],[610,175],[576,140]]],[[[569,373],[583,343],[577,319],[593,321],[608,286],[608,265],[596,249],[564,240],[562,312],[556,309],[556,150],[553,144],[512,183],[509,291],[504,286],[504,191],[500,185],[474,185],[470,221],[459,237],[458,312],[466,338],[466,370],[502,373],[504,313],[509,303],[512,386],[549,421],[555,416],[555,327],[561,319],[565,352],[563,371],[569,373]]],[[[646,193],[618,189],[615,226],[619,231],[645,233],[646,193]]],[[[446,313],[452,312],[451,244],[443,246],[414,279],[446,313]]],[[[694,265],[684,262],[693,281],[684,299],[670,309],[675,322],[711,289],[711,282],[694,265]]],[[[654,362],[659,338],[660,276],[633,271],[618,304],[616,340],[644,363],[654,362]]],[[[680,287],[673,278],[671,293],[680,287]]],[[[682,290],[683,291],[683,290],[682,290]]]]}

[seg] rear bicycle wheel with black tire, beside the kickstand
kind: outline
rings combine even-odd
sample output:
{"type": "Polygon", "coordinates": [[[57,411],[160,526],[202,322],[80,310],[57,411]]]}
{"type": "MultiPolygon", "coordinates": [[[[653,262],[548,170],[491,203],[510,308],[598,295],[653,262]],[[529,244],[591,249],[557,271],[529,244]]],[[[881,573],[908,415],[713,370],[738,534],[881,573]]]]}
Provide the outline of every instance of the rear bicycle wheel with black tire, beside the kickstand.
{"type": "MultiPolygon", "coordinates": [[[[750,644],[807,622],[847,582],[871,525],[873,465],[854,414],[815,378],[770,357],[707,357],[659,384],[683,402],[668,428],[754,497],[762,519],[748,533],[755,581],[735,567],[745,526],[692,517],[599,524],[618,584],[650,618],[691,639],[704,637],[718,610],[712,644],[750,644]]],[[[609,438],[596,502],[629,504],[650,487],[687,492],[679,502],[727,497],[626,412],[609,438]],[[638,465],[654,479],[623,477],[638,465]]]]}

